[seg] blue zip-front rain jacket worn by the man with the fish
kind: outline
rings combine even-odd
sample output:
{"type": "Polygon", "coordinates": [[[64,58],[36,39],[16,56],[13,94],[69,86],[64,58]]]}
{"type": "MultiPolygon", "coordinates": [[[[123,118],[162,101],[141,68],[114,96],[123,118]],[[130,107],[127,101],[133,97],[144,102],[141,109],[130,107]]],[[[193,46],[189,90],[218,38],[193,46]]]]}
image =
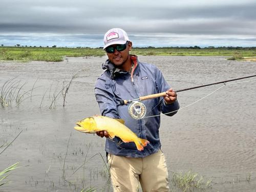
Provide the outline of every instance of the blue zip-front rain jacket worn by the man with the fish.
{"type": "Polygon", "coordinates": [[[161,112],[173,116],[179,109],[179,103],[176,100],[172,104],[166,104],[163,97],[141,101],[146,106],[146,115],[143,119],[133,119],[128,113],[129,105],[120,105],[120,100],[165,92],[170,86],[156,66],[139,62],[135,55],[130,56],[135,62],[137,61],[133,73],[134,83],[129,72],[115,69],[108,59],[102,64],[105,71],[97,79],[94,91],[101,115],[123,119],[125,125],[138,137],[150,141],[143,151],[138,151],[134,142],[123,143],[119,138],[106,139],[105,151],[117,156],[146,157],[156,153],[161,147],[160,116],[148,116],[160,115],[161,112]],[[176,112],[169,113],[173,111],[176,112]]]}

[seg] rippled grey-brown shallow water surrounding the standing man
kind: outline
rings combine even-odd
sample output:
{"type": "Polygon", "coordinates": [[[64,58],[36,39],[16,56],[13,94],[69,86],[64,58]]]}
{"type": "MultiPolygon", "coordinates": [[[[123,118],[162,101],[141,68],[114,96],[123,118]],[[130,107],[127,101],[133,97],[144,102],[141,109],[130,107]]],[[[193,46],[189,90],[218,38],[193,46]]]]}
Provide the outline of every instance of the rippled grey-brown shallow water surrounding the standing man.
{"type": "MultiPolygon", "coordinates": [[[[104,139],[73,129],[77,120],[99,114],[93,91],[105,59],[0,62],[0,88],[14,78],[16,87],[24,85],[19,94],[28,91],[26,99],[18,105],[13,101],[11,106],[0,108],[0,146],[10,143],[22,131],[0,155],[0,170],[16,162],[25,166],[13,170],[8,177],[12,183],[1,186],[0,191],[80,191],[83,187],[111,191],[104,162],[98,154],[105,160],[104,139]],[[73,75],[76,78],[71,82],[63,108],[61,89],[73,75]],[[57,96],[55,102],[54,96],[57,96]],[[65,182],[63,175],[75,185],[65,182]]],[[[225,57],[139,56],[139,60],[158,66],[174,90],[256,72],[256,62],[228,61],[225,57]]],[[[181,108],[221,86],[178,93],[181,108]]],[[[170,177],[173,172],[192,170],[205,180],[212,179],[212,188],[207,191],[255,190],[255,87],[256,80],[227,83],[175,116],[161,117],[160,138],[170,177]]]]}

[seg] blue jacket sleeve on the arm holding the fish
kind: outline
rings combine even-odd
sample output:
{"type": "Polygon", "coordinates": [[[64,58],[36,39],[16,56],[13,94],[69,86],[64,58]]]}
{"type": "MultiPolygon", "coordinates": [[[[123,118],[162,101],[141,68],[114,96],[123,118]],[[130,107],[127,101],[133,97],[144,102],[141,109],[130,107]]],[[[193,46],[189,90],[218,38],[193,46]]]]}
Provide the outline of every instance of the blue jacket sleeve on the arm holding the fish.
{"type": "Polygon", "coordinates": [[[120,118],[117,113],[117,102],[111,88],[111,80],[98,79],[94,89],[102,116],[120,118]]]}

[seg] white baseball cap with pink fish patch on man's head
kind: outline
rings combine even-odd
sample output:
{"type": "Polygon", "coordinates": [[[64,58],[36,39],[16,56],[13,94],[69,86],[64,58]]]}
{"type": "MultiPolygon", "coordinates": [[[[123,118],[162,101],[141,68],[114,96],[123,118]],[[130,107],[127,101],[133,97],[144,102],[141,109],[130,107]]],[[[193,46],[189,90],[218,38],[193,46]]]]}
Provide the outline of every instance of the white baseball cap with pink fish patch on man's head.
{"type": "Polygon", "coordinates": [[[125,44],[126,41],[129,41],[129,37],[127,36],[127,33],[123,29],[120,29],[120,28],[110,29],[104,35],[103,49],[114,44],[125,44]]]}

